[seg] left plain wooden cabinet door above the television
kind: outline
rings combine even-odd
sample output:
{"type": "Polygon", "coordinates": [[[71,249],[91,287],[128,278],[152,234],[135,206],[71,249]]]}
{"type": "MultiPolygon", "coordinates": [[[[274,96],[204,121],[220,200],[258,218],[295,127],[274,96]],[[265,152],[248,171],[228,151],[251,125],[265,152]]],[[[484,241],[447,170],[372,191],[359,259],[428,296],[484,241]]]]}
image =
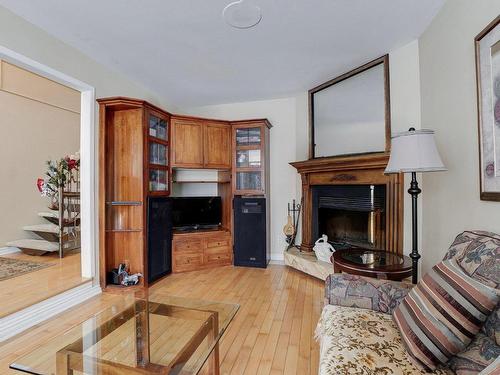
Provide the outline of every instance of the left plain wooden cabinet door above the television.
{"type": "Polygon", "coordinates": [[[172,166],[203,168],[203,124],[172,119],[172,166]]]}

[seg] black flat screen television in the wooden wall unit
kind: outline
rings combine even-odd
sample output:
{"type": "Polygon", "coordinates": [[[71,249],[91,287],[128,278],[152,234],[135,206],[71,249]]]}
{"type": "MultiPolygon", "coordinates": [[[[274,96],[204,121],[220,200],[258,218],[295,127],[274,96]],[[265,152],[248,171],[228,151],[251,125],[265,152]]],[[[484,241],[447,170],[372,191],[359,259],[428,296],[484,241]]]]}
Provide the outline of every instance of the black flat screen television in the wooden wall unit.
{"type": "Polygon", "coordinates": [[[220,197],[175,197],[172,199],[174,229],[217,228],[222,222],[220,197]]]}

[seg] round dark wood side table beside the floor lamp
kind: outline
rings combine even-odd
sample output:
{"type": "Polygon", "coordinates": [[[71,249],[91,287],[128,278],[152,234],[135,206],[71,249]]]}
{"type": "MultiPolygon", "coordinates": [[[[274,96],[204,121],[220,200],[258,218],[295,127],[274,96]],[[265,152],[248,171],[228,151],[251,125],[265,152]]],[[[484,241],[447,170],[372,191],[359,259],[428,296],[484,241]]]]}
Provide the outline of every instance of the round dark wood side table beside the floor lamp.
{"type": "Polygon", "coordinates": [[[401,281],[411,276],[412,263],[406,255],[383,250],[342,249],[332,255],[335,272],[401,281]]]}

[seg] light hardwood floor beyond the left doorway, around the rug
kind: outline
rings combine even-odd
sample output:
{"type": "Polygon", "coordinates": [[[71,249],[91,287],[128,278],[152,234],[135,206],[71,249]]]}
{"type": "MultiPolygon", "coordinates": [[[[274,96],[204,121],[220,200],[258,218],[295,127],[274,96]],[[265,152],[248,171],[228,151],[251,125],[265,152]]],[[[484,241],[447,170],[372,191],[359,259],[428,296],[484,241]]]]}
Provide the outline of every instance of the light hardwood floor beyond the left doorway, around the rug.
{"type": "Polygon", "coordinates": [[[89,281],[81,277],[80,252],[69,252],[63,259],[57,254],[14,253],[2,257],[51,263],[52,266],[0,281],[0,318],[89,281]]]}

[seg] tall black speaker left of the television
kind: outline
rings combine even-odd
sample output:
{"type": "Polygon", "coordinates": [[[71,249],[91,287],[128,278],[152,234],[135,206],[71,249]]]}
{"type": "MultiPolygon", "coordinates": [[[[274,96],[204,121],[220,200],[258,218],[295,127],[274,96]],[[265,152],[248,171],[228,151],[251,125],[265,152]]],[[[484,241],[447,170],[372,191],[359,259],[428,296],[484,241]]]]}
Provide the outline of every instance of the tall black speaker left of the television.
{"type": "Polygon", "coordinates": [[[172,201],[148,200],[148,282],[172,272],[172,201]]]}

